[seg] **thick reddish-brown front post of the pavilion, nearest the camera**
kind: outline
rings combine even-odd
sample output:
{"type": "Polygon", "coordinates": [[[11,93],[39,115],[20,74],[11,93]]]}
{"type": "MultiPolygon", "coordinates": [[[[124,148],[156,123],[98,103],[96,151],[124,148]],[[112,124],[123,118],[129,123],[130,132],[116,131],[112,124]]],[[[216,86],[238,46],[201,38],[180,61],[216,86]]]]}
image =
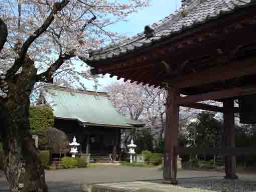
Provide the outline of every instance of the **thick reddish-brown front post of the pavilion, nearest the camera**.
{"type": "Polygon", "coordinates": [[[177,97],[179,90],[169,88],[167,101],[167,126],[165,127],[165,157],[164,157],[164,180],[165,183],[177,184],[177,145],[179,106],[177,97]]]}

